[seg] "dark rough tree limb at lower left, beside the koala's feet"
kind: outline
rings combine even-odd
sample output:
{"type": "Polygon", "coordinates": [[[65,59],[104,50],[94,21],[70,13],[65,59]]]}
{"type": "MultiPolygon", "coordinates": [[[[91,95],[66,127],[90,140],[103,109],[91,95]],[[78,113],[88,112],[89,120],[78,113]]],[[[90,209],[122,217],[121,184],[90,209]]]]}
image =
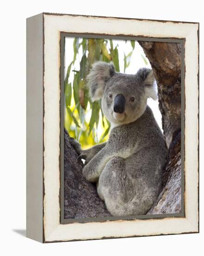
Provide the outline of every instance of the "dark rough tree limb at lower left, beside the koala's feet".
{"type": "Polygon", "coordinates": [[[69,138],[64,129],[64,219],[110,216],[96,185],[83,177],[83,162],[69,138]]]}

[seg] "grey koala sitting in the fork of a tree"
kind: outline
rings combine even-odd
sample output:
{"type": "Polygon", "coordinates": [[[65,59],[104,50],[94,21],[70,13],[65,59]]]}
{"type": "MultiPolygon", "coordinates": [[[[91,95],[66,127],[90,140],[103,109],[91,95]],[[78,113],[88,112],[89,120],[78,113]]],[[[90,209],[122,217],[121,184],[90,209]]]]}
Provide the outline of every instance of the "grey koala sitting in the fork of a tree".
{"type": "Polygon", "coordinates": [[[136,74],[115,71],[112,63],[96,62],[88,75],[92,101],[102,99],[102,111],[111,123],[107,142],[83,150],[83,176],[97,183],[97,192],[112,216],[147,214],[156,201],[166,164],[164,136],[147,106],[157,99],[153,71],[136,74]]]}

